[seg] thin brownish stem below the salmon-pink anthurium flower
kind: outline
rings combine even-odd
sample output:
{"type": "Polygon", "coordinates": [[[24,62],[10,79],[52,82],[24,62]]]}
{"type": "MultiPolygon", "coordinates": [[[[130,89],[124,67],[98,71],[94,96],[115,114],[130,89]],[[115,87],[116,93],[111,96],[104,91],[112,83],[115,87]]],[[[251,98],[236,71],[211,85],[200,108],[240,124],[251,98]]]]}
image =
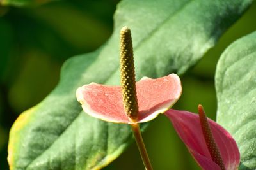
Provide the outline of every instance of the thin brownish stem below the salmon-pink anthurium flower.
{"type": "Polygon", "coordinates": [[[131,127],[132,127],[133,135],[134,135],[134,138],[136,140],[138,149],[140,151],[140,156],[141,156],[141,159],[143,160],[143,164],[145,166],[145,169],[146,170],[153,170],[152,165],[151,165],[150,160],[149,160],[149,157],[148,157],[146,147],[145,147],[144,142],[143,142],[143,138],[141,136],[140,126],[137,123],[135,123],[135,124],[131,124],[131,127]]]}

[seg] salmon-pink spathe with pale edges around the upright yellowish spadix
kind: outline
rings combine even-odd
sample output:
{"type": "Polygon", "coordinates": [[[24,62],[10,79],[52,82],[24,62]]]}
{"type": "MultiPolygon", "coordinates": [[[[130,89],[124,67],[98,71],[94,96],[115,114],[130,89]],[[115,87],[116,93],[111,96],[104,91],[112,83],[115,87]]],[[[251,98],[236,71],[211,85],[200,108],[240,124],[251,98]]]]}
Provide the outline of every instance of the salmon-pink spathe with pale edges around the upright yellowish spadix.
{"type": "MultiPolygon", "coordinates": [[[[151,79],[144,77],[136,83],[139,106],[138,122],[147,122],[168,110],[180,97],[182,88],[176,74],[151,79]]],[[[119,86],[90,83],[79,87],[77,101],[93,117],[116,123],[132,123],[125,114],[119,86]]]]}

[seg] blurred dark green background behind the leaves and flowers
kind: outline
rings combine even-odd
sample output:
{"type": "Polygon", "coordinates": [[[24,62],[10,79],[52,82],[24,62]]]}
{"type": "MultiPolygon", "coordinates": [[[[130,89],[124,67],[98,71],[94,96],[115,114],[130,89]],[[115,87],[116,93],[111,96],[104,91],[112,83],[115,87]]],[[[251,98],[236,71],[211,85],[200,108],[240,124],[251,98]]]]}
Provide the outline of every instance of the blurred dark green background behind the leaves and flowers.
{"type": "MultiPolygon", "coordinates": [[[[52,1],[42,6],[0,6],[0,169],[8,169],[8,133],[22,111],[39,103],[58,83],[63,62],[97,49],[112,32],[117,0],[52,1]]],[[[182,79],[176,109],[196,112],[203,104],[215,119],[214,72],[232,41],[256,29],[256,3],[182,79]]],[[[163,116],[143,134],[155,169],[199,169],[163,116]]],[[[104,169],[143,169],[135,143],[104,169]]]]}

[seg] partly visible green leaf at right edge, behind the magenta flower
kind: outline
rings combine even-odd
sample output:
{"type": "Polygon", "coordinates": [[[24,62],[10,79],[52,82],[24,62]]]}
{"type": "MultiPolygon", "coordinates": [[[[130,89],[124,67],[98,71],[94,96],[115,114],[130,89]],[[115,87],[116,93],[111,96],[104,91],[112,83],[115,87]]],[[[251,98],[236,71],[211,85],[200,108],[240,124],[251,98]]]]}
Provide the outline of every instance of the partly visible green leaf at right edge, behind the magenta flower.
{"type": "Polygon", "coordinates": [[[230,45],[216,69],[217,122],[236,139],[240,169],[256,169],[256,32],[230,45]]]}

